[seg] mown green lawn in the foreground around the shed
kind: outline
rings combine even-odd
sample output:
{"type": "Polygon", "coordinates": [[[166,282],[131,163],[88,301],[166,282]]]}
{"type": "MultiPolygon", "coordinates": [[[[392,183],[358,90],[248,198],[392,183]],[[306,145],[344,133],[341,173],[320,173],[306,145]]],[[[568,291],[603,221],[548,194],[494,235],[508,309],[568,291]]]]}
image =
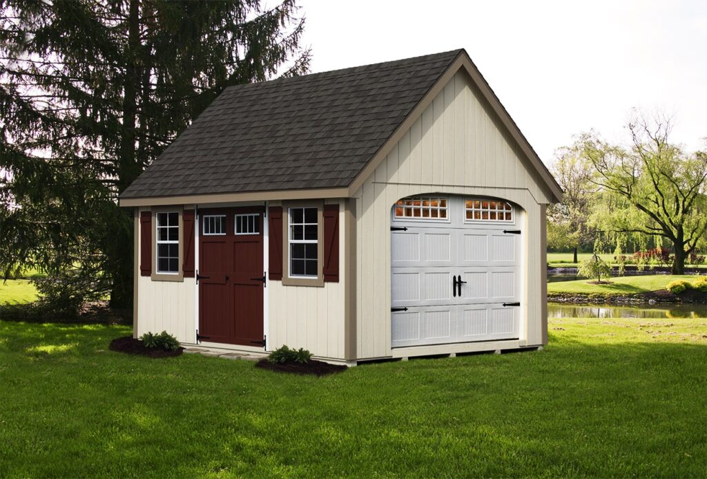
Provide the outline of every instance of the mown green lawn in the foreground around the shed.
{"type": "Polygon", "coordinates": [[[549,330],[542,352],[317,379],[0,321],[0,477],[704,475],[707,320],[549,330]]]}

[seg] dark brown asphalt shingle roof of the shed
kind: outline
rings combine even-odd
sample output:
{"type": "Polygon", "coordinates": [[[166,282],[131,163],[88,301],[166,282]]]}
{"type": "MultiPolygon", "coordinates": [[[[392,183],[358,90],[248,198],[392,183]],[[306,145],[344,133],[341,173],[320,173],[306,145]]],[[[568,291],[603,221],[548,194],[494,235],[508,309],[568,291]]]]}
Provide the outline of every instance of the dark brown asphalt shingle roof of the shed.
{"type": "Polygon", "coordinates": [[[346,187],[461,52],[230,86],[121,197],[346,187]]]}

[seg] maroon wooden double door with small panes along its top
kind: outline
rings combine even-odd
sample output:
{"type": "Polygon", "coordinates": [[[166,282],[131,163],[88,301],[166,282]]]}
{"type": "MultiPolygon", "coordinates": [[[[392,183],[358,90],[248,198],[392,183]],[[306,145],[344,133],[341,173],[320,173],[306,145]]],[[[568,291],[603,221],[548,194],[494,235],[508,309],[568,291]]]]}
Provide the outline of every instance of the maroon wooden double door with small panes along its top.
{"type": "Polygon", "coordinates": [[[199,209],[199,337],[262,346],[262,207],[199,209]]]}

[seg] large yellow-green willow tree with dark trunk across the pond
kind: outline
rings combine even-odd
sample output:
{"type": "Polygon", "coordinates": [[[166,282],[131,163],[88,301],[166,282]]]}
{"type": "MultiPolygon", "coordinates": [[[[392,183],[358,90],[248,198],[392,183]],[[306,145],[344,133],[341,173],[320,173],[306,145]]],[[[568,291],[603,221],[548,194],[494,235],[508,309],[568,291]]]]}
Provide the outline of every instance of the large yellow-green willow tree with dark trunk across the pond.
{"type": "Polygon", "coordinates": [[[707,233],[707,154],[685,154],[670,144],[670,120],[636,115],[629,122],[631,146],[583,136],[583,154],[597,171],[602,201],[592,214],[604,231],[641,233],[670,241],[672,274],[707,233]]]}

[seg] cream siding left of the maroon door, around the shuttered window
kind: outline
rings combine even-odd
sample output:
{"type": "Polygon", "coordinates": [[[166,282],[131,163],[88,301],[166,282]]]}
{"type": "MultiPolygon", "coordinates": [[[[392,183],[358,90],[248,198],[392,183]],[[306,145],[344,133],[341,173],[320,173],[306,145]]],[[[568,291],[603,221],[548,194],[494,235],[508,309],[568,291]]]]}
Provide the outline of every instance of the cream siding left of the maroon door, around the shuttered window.
{"type": "MultiPolygon", "coordinates": [[[[181,207],[180,207],[181,209],[181,207]]],[[[141,208],[140,211],[148,209],[141,208]]],[[[153,221],[154,229],[154,221],[153,221]]],[[[135,254],[141,250],[139,224],[136,223],[135,254]]],[[[180,235],[182,232],[180,231],[180,235]]],[[[155,241],[156,233],[152,232],[155,241]]],[[[152,258],[153,262],[155,258],[152,258]]],[[[139,260],[138,260],[139,261],[139,260]]],[[[153,265],[153,269],[154,269],[153,265]]],[[[194,343],[196,323],[194,321],[194,278],[183,281],[158,281],[149,276],[141,276],[139,265],[135,271],[137,276],[137,327],[133,334],[140,337],[145,333],[161,333],[167,331],[175,335],[179,342],[194,343]]]]}

